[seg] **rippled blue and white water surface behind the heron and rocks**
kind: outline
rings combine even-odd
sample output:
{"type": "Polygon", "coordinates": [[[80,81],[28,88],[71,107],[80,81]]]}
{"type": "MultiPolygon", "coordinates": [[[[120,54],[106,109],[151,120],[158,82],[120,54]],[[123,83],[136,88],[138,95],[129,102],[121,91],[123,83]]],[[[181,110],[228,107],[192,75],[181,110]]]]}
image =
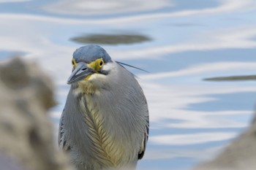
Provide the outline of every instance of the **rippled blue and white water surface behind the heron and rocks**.
{"type": "Polygon", "coordinates": [[[56,126],[73,51],[96,43],[138,76],[150,137],[140,170],[191,169],[249,125],[256,101],[254,0],[0,0],[0,59],[53,77],[56,126]]]}

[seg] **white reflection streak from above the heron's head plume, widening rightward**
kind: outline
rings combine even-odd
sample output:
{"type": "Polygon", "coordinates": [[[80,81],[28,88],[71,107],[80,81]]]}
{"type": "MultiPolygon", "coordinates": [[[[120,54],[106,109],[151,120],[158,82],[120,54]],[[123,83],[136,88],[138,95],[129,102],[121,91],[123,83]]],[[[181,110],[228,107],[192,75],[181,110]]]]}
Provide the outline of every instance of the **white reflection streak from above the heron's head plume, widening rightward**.
{"type": "Polygon", "coordinates": [[[205,51],[230,48],[255,48],[256,26],[237,28],[225,28],[220,30],[203,32],[197,35],[197,39],[191,42],[183,42],[176,45],[162,45],[161,47],[148,47],[141,50],[113,51],[121,59],[151,58],[157,59],[162,55],[182,53],[187,51],[205,51]]]}

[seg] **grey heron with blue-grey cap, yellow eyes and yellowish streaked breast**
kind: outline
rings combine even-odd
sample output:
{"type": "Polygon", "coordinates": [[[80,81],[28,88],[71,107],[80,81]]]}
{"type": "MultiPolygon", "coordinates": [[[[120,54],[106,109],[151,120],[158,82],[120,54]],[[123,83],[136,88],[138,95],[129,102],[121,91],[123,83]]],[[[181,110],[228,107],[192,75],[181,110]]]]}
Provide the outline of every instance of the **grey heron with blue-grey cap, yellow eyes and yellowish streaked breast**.
{"type": "Polygon", "coordinates": [[[133,74],[97,45],[73,54],[59,147],[78,170],[135,169],[148,140],[148,106],[133,74]]]}

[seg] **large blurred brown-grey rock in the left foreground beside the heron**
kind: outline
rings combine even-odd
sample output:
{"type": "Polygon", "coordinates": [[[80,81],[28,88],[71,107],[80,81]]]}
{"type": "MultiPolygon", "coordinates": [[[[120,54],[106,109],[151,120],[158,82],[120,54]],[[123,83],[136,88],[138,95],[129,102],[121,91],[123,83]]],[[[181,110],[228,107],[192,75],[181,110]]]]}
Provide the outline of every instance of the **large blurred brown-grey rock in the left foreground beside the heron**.
{"type": "Polygon", "coordinates": [[[34,63],[18,58],[0,65],[0,169],[70,170],[53,144],[46,114],[53,84],[34,63]]]}

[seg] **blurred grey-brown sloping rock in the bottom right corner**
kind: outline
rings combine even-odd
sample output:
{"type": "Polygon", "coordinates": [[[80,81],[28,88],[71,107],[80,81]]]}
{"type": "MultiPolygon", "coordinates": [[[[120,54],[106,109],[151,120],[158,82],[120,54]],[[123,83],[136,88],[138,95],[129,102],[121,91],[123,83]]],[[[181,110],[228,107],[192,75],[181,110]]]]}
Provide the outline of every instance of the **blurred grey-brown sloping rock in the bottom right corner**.
{"type": "Polygon", "coordinates": [[[255,170],[256,169],[256,115],[252,125],[238,136],[214,160],[194,170],[255,170]]]}

